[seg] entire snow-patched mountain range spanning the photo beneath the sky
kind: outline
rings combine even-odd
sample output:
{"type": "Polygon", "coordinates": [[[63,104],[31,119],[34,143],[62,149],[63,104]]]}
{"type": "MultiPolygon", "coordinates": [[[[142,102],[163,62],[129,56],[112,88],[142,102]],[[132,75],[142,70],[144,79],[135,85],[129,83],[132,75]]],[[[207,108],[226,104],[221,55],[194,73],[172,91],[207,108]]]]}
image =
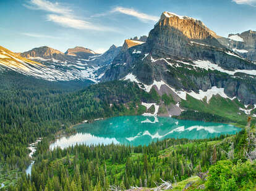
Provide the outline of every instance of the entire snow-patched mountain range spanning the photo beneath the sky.
{"type": "MultiPolygon", "coordinates": [[[[65,53],[43,46],[20,54],[0,50],[0,70],[14,70],[49,81],[116,79],[138,83],[145,91],[202,100],[219,94],[256,104],[256,32],[224,38],[200,20],[163,12],[148,37],[126,39],[104,54],[85,47],[65,53]]],[[[179,105],[174,112],[181,113],[179,105]]]]}

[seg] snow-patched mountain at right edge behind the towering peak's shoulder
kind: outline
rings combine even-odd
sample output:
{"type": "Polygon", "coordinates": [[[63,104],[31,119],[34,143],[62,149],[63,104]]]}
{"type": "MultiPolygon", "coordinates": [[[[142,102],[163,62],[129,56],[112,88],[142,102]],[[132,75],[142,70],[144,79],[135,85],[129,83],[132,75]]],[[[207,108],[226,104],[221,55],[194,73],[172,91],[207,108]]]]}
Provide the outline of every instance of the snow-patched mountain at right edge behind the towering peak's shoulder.
{"type": "Polygon", "coordinates": [[[228,38],[220,38],[219,41],[241,57],[256,62],[256,31],[230,34],[228,38]]]}

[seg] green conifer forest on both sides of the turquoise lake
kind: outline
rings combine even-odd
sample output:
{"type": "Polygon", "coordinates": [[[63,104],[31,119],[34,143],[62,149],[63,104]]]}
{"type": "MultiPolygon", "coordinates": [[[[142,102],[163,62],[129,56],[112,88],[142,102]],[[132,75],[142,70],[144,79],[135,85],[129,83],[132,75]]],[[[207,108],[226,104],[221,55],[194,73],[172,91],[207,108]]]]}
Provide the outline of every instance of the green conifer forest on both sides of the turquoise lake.
{"type": "MultiPolygon", "coordinates": [[[[210,178],[197,179],[194,185],[203,184],[209,190],[255,189],[255,163],[246,155],[253,149],[248,135],[254,134],[254,128],[208,140],[168,139],[139,147],[75,145],[49,150],[54,135],[74,131],[70,129],[72,124],[141,115],[146,111],[141,102],[169,105],[174,100],[171,95],[158,95],[155,89],[147,93],[128,81],[88,86],[37,79],[27,79],[28,84],[19,76],[2,78],[5,83],[0,85],[0,180],[6,186],[1,191],[109,190],[111,186],[125,190],[131,186],[156,187],[161,179],[179,185],[197,173],[207,172],[210,178]],[[27,176],[27,147],[38,137],[44,139],[37,146],[32,175],[27,176]],[[216,176],[219,171],[223,177],[216,176]]],[[[180,118],[192,115],[188,111],[180,118]]],[[[202,116],[205,121],[231,121],[205,112],[197,112],[195,118],[202,116]]]]}

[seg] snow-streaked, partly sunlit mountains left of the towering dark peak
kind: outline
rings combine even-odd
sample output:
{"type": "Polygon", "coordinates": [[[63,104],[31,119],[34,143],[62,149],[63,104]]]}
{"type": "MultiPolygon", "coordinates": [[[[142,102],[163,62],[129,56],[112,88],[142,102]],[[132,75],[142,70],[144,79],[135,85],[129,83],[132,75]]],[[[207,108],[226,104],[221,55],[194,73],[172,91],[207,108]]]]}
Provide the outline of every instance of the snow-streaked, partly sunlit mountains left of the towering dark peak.
{"type": "MultiPolygon", "coordinates": [[[[4,48],[2,47],[2,49],[4,48]]],[[[93,83],[97,83],[108,65],[120,51],[121,47],[114,45],[104,54],[96,54],[94,51],[84,47],[68,49],[65,54],[47,46],[36,47],[20,54],[14,54],[7,50],[6,52],[19,57],[20,60],[26,60],[29,65],[17,61],[25,69],[10,67],[9,61],[2,59],[2,65],[4,65],[2,70],[15,70],[23,75],[48,81],[84,81],[88,79],[93,83]],[[32,63],[36,63],[36,65],[32,65],[32,63]]],[[[2,55],[3,58],[5,56],[2,55]]]]}

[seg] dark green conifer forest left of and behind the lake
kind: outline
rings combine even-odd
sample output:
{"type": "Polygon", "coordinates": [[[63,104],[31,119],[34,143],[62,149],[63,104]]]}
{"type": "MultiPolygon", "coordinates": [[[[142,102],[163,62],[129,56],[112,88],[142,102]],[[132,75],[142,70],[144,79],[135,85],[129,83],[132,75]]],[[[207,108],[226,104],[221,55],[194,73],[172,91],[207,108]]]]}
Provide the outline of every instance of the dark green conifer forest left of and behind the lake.
{"type": "Polygon", "coordinates": [[[140,115],[145,111],[140,105],[142,100],[158,102],[154,92],[148,94],[127,81],[71,91],[68,84],[62,87],[25,76],[0,76],[4,81],[0,84],[0,162],[6,163],[10,171],[28,166],[27,147],[38,137],[54,136],[59,130],[70,131],[69,126],[83,120],[140,115]]]}

